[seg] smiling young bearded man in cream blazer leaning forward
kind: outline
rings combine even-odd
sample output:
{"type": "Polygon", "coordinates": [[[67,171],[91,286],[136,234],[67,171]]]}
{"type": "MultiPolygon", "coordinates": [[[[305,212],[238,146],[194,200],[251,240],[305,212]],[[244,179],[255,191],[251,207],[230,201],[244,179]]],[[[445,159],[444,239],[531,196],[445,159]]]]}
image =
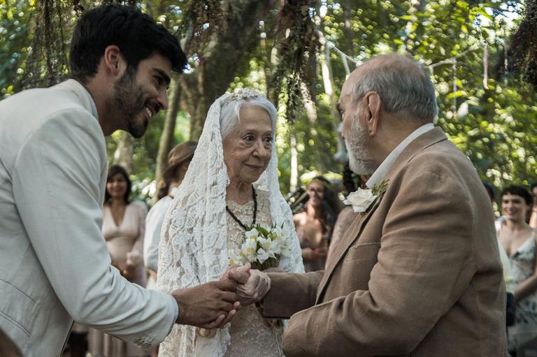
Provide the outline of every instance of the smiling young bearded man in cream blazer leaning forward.
{"type": "Polygon", "coordinates": [[[126,6],[79,20],[71,80],[0,102],[0,329],[22,354],[59,356],[73,319],[138,347],[174,323],[221,326],[238,308],[235,285],[210,282],[170,295],[130,284],[101,235],[104,136],[143,135],[168,105],[176,38],[126,6]]]}

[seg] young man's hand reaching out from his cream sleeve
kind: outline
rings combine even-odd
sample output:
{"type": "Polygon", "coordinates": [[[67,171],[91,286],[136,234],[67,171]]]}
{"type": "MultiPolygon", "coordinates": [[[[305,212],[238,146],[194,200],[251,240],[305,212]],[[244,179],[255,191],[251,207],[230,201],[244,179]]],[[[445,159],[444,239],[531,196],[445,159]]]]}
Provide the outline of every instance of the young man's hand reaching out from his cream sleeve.
{"type": "Polygon", "coordinates": [[[224,326],[241,308],[235,291],[236,285],[229,279],[172,291],[179,307],[176,323],[201,328],[224,326]]]}

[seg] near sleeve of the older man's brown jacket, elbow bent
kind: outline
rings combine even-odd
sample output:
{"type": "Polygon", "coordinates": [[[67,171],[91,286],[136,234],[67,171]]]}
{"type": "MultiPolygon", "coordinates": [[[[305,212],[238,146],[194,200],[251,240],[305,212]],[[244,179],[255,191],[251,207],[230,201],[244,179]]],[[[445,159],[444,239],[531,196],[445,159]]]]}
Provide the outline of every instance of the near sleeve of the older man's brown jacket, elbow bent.
{"type": "Polygon", "coordinates": [[[367,291],[298,312],[286,356],[406,355],[468,288],[475,212],[457,180],[423,172],[400,187],[382,228],[367,291]]]}

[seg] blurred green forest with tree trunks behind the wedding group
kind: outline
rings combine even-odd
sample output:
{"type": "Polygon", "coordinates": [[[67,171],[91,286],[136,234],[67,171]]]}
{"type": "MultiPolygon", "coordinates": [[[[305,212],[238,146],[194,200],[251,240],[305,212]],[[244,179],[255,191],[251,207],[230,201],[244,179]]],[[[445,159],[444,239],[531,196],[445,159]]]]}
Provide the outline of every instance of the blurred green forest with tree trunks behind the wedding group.
{"type": "MultiPolygon", "coordinates": [[[[73,24],[98,1],[0,0],[0,99],[69,76],[73,24]]],[[[336,102],[346,75],[377,54],[428,68],[438,125],[496,188],[537,180],[537,0],[126,1],[172,31],[189,57],[170,108],[138,140],[107,139],[110,163],[148,199],[173,145],[196,139],[214,99],[252,87],[277,103],[282,192],[346,158],[336,102]]],[[[31,105],[31,103],[29,103],[31,105]]]]}

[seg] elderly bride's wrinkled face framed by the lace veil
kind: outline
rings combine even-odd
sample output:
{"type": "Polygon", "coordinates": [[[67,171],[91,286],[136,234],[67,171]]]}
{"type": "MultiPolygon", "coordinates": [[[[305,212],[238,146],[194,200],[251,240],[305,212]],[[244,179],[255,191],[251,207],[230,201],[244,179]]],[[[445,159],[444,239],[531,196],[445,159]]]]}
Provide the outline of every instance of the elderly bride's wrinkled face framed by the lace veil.
{"type": "Polygon", "coordinates": [[[241,121],[225,138],[224,163],[229,180],[251,184],[259,179],[271,160],[273,133],[268,113],[255,105],[243,105],[241,121]]]}

